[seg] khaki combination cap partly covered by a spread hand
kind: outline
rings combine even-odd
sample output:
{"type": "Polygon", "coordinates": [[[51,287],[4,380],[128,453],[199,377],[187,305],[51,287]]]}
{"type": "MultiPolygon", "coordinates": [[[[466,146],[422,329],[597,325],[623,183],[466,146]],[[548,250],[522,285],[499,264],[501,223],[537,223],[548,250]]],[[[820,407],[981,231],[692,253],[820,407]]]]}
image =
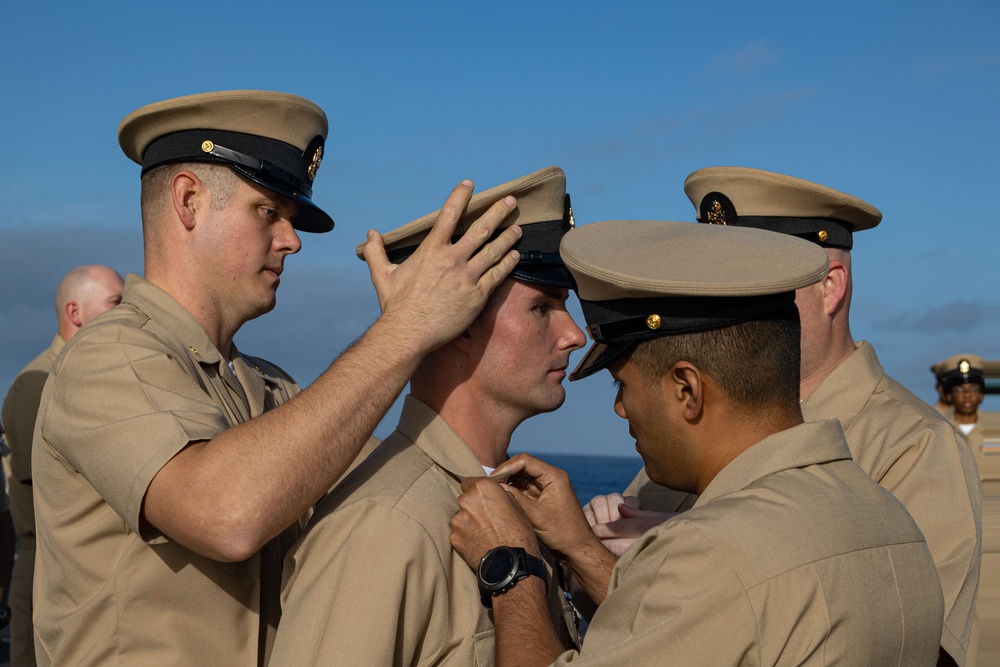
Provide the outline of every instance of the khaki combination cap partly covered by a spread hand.
{"type": "MultiPolygon", "coordinates": [[[[474,195],[459,219],[452,241],[461,238],[472,223],[507,195],[517,198],[517,208],[501,223],[492,238],[511,225],[521,227],[521,239],[514,246],[521,257],[511,277],[572,289],[572,279],[559,256],[559,242],[575,223],[569,195],[566,194],[566,174],[559,167],[546,167],[474,195]]],[[[389,259],[399,264],[412,255],[420,242],[427,238],[440,213],[438,209],[383,234],[389,259]]],[[[357,247],[359,258],[364,258],[362,253],[366,243],[357,247]]]]}

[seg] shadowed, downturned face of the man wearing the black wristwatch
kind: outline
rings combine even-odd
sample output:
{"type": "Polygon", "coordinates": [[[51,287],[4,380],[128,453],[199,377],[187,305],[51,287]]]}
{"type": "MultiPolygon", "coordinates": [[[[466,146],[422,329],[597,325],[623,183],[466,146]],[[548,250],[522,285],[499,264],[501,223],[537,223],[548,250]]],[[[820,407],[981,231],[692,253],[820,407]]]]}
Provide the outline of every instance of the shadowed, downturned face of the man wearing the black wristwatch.
{"type": "Polygon", "coordinates": [[[627,356],[615,360],[608,370],[618,387],[615,413],[628,420],[628,432],[635,438],[635,449],[646,465],[646,474],[657,484],[684,490],[678,429],[671,426],[663,383],[642,375],[627,356]]]}

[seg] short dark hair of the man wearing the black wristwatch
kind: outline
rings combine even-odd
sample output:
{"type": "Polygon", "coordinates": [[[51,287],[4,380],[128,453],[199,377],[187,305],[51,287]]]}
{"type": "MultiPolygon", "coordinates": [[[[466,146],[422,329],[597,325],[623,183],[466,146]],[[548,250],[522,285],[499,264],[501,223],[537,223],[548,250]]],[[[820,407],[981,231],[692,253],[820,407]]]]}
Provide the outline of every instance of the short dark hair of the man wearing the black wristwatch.
{"type": "Polygon", "coordinates": [[[630,359],[649,380],[658,380],[679,361],[689,361],[746,409],[797,404],[800,328],[793,304],[721,329],[642,341],[630,359]]]}

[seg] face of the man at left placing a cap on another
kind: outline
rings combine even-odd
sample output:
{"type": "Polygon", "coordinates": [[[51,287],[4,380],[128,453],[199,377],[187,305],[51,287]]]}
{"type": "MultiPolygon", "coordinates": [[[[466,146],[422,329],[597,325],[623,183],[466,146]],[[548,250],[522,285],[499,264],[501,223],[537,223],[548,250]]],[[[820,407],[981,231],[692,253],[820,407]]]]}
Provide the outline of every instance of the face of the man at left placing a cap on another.
{"type": "Polygon", "coordinates": [[[201,257],[221,312],[247,321],[274,308],[285,257],[302,247],[292,228],[298,210],[297,202],[243,179],[222,210],[209,208],[201,257]]]}

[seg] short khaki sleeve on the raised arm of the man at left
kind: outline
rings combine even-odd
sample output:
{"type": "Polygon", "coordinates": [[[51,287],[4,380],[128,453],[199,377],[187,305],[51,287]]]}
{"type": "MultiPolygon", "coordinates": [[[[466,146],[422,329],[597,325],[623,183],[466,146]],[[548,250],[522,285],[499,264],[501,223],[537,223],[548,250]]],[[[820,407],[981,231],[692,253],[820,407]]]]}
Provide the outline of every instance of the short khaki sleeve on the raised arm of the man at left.
{"type": "Polygon", "coordinates": [[[37,435],[138,533],[142,499],[160,468],[229,423],[155,337],[122,335],[128,340],[81,340],[69,349],[53,369],[37,435]]]}

